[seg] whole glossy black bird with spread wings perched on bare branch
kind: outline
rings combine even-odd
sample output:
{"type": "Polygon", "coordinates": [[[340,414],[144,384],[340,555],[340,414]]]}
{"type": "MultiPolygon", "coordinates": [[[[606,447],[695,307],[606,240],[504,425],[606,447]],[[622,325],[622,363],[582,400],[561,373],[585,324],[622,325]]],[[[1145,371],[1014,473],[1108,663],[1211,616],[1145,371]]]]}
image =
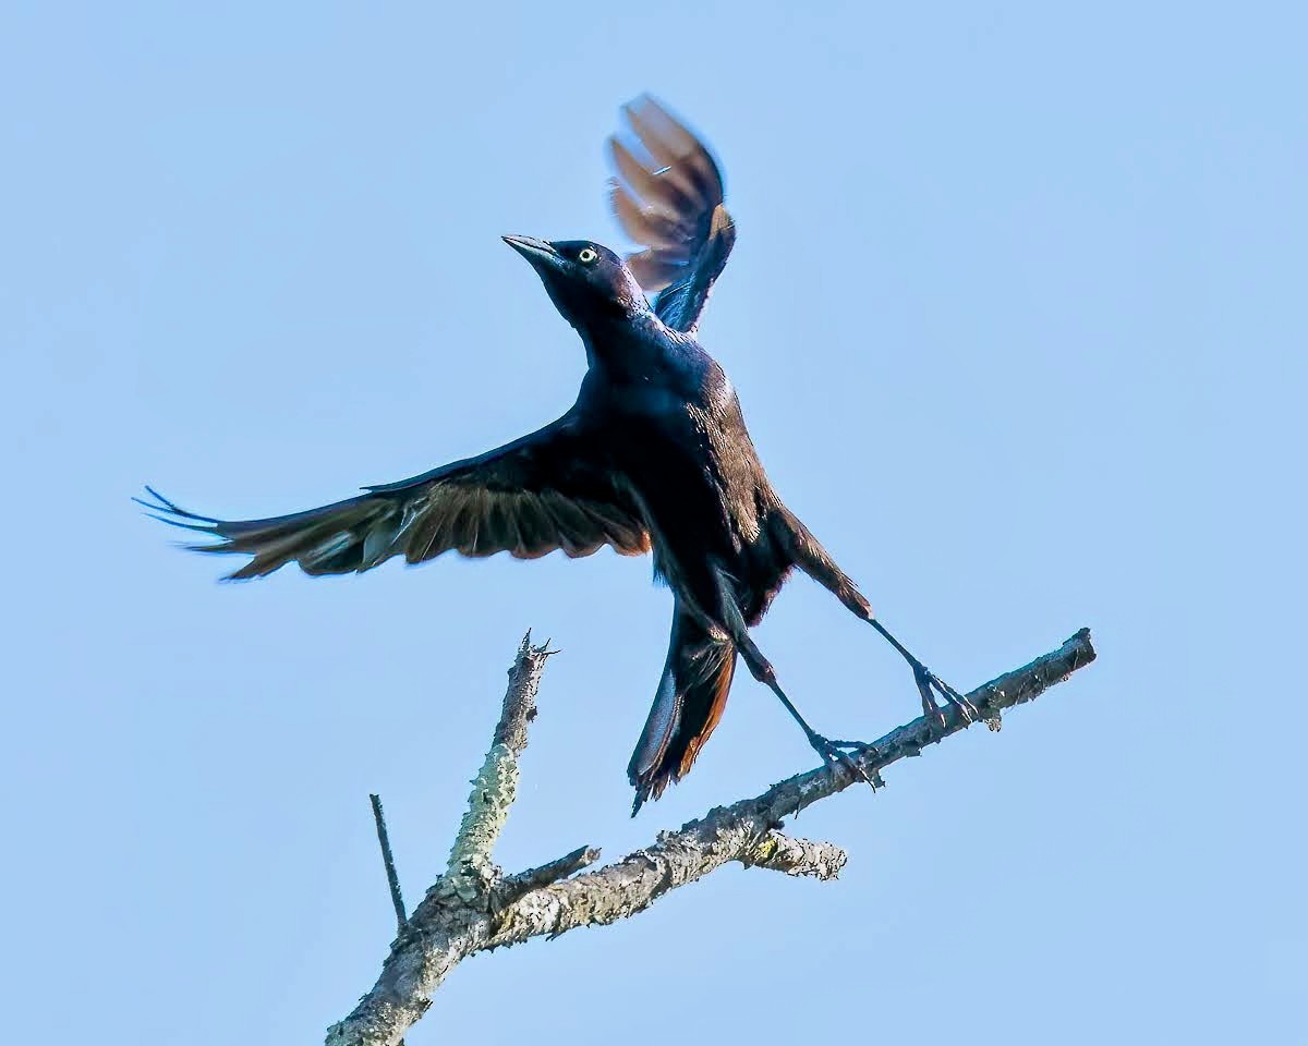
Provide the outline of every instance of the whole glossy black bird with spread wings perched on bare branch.
{"type": "Polygon", "coordinates": [[[804,722],[749,638],[798,567],[880,632],[908,660],[929,715],[933,694],[972,720],[964,697],[929,672],[872,616],[867,600],[782,503],[759,463],[740,403],[695,336],[735,243],[722,175],[708,149],[650,98],[624,109],[630,146],[610,139],[612,205],[645,246],[625,262],[591,241],[505,237],[581,336],[589,369],[557,421],[502,447],[347,501],[273,519],[226,522],[178,507],[150,488],[160,518],[221,539],[198,550],[243,553],[232,578],[289,562],[306,574],[370,570],[392,556],[424,562],[610,545],[654,553],[675,601],[667,663],[628,775],[633,813],[683,778],[717,727],[736,655],[777,694],[825,760],[852,741],[804,722]],[[653,307],[645,292],[657,292],[653,307]]]}

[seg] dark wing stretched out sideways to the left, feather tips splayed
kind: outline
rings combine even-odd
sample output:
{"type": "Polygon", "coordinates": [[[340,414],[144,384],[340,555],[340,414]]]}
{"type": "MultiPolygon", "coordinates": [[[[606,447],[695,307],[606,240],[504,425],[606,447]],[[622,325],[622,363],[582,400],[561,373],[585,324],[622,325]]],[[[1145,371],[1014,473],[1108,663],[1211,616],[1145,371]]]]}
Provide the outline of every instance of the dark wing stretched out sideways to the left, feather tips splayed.
{"type": "Polygon", "coordinates": [[[233,579],[263,577],[289,562],[306,574],[345,574],[392,556],[419,564],[451,549],[525,560],[555,549],[590,556],[604,545],[625,556],[649,552],[649,530],[606,469],[603,447],[602,435],[569,413],[477,458],[294,515],[213,519],[150,488],[153,501],[137,501],[166,523],[218,539],[190,547],[198,552],[250,556],[233,579]]]}

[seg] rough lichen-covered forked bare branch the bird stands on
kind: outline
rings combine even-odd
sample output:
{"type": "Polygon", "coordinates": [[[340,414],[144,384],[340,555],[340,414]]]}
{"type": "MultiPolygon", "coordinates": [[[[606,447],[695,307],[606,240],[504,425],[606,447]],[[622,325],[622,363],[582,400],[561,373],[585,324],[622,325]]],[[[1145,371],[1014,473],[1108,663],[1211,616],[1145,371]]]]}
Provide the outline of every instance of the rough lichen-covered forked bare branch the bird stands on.
{"type": "MultiPolygon", "coordinates": [[[[450,867],[391,944],[377,983],[345,1020],[328,1029],[328,1046],[395,1046],[430,1005],[432,992],[468,956],[624,919],[729,862],[818,879],[835,879],[845,864],[840,847],[780,832],[785,817],[859,781],[837,764],[797,774],[753,799],[715,808],[593,872],[574,875],[599,856],[598,850],[582,847],[540,868],[502,876],[490,852],[515,794],[517,757],[526,747],[526,724],[535,714],[535,693],[547,656],[544,647],[531,646],[528,633],[510,669],[494,744],[477,775],[483,782],[489,768],[487,788],[475,783],[450,867]],[[513,743],[508,740],[510,734],[513,743]]],[[[990,728],[998,730],[1003,711],[1035,700],[1093,659],[1090,630],[1082,629],[1058,650],[978,686],[968,698],[990,728]]],[[[854,761],[875,782],[887,766],[921,756],[925,747],[965,727],[956,709],[944,709],[939,717],[920,717],[891,731],[858,752],[854,761]]]]}

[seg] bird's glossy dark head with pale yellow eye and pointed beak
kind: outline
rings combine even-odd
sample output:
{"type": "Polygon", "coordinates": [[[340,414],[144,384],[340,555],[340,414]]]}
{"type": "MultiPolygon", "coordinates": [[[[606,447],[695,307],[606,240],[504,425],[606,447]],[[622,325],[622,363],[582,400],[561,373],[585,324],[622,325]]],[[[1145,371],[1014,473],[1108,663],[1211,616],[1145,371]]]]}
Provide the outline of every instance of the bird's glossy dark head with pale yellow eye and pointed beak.
{"type": "Polygon", "coordinates": [[[531,263],[555,307],[578,329],[649,309],[645,292],[608,247],[589,239],[505,237],[531,263]]]}

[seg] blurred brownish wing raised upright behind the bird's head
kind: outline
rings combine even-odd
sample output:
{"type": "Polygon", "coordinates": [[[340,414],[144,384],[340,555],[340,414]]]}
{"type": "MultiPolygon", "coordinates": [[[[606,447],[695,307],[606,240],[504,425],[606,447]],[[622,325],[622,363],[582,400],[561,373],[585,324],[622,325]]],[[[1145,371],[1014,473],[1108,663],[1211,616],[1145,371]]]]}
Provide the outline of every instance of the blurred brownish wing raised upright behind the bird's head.
{"type": "Polygon", "coordinates": [[[735,243],[722,174],[704,143],[653,98],[641,97],[623,112],[642,156],[617,136],[608,140],[617,171],[613,213],[623,231],[645,246],[627,265],[645,290],[658,292],[659,319],[693,331],[735,243]]]}

